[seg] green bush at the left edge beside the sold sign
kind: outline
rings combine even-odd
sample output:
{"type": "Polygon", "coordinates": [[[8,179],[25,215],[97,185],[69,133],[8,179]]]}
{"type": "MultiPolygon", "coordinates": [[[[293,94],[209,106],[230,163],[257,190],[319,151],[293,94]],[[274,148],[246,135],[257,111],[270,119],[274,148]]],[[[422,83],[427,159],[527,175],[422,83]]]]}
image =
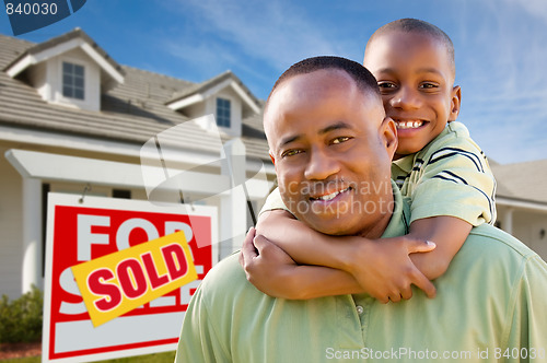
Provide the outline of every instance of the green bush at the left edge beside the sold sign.
{"type": "Polygon", "coordinates": [[[0,300],[0,343],[35,342],[42,340],[42,313],[44,296],[42,291],[32,291],[20,298],[0,300]]]}

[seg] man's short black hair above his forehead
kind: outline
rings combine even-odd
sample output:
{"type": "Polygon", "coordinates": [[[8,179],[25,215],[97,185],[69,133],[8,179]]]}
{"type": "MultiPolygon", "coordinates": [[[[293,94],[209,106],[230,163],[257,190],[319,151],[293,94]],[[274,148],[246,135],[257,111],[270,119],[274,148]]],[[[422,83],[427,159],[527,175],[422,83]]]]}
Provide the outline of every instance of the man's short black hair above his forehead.
{"type": "Polygon", "coordinates": [[[356,82],[359,90],[362,92],[371,92],[381,99],[376,79],[363,65],[342,57],[318,56],[301,60],[286,70],[274,84],[264,110],[266,112],[268,108],[271,95],[281,83],[295,75],[312,73],[323,69],[339,69],[345,71],[356,82]]]}

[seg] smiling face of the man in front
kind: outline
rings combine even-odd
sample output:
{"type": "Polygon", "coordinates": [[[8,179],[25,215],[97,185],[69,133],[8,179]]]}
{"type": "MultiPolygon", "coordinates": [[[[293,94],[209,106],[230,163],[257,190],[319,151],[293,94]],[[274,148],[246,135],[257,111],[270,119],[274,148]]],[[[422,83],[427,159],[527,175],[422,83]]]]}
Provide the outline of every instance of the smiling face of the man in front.
{"type": "Polygon", "coordinates": [[[265,129],[281,197],[298,219],[338,235],[387,225],[397,142],[384,116],[379,97],[341,70],[295,75],[278,86],[265,129]]]}

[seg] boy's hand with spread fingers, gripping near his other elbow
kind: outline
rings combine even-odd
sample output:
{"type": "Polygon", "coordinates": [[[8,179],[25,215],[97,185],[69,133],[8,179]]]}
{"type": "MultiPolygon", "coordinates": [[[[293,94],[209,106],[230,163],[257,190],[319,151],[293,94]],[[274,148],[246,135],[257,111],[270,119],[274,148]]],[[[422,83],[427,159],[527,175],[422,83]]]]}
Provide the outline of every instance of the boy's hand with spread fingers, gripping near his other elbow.
{"type": "Polygon", "coordinates": [[[366,293],[382,303],[410,298],[412,284],[423,290],[428,297],[434,297],[435,286],[409,258],[410,254],[427,253],[434,248],[432,242],[407,236],[361,239],[350,249],[351,264],[345,270],[353,276],[366,293]]]}

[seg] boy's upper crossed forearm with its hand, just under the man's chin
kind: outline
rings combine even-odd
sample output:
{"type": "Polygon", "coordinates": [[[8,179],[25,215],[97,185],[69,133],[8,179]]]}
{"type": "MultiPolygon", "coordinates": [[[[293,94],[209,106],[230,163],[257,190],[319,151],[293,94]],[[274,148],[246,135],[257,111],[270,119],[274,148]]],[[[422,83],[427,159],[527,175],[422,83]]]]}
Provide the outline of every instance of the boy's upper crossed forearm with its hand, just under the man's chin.
{"type": "MultiPolygon", "coordinates": [[[[433,284],[416,268],[409,258],[409,254],[429,251],[434,244],[411,238],[391,238],[382,241],[369,241],[361,237],[333,237],[318,233],[304,223],[295,220],[289,212],[275,210],[260,215],[257,224],[258,233],[283,248],[296,262],[306,265],[327,266],[358,277],[364,292],[382,302],[392,300],[397,302],[411,296],[410,285],[415,284],[423,290],[428,296],[433,297],[435,289],[433,284]],[[290,236],[290,239],[288,239],[290,236]]],[[[272,269],[272,273],[276,273],[272,269]]],[[[251,273],[252,276],[252,273],[251,273]]],[[[275,274],[278,277],[279,274],[275,274]]],[[[279,281],[289,279],[283,276],[279,279],[261,281],[263,289],[268,290],[268,284],[277,284],[279,281]]],[[[314,281],[303,277],[300,284],[291,282],[280,283],[279,288],[284,291],[283,295],[298,296],[298,291],[290,291],[291,285],[304,284],[313,290],[314,281]]],[[[294,279],[299,279],[294,278],[294,279]]],[[[255,281],[259,281],[257,277],[255,281]]],[[[321,282],[317,283],[321,285],[321,282]]],[[[334,295],[333,286],[321,285],[322,295],[334,295]],[[328,290],[333,289],[333,293],[328,290]]],[[[276,286],[271,286],[275,290],[276,286]]],[[[263,290],[264,291],[264,290],[263,290]]],[[[353,291],[337,290],[339,293],[354,293],[353,291]]],[[[269,291],[270,294],[275,293],[269,291]]],[[[296,298],[296,297],[293,297],[296,298]]]]}

